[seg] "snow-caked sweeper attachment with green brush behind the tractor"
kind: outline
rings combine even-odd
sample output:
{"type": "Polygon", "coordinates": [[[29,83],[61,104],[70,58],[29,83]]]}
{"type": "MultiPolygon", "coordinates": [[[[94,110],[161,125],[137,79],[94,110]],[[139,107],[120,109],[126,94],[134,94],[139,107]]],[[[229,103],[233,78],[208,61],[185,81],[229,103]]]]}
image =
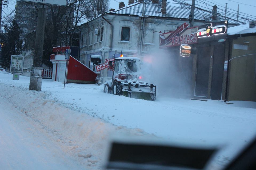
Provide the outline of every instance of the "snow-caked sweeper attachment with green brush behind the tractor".
{"type": "Polygon", "coordinates": [[[144,99],[155,101],[157,95],[157,86],[153,84],[141,85],[139,84],[123,84],[123,96],[131,97],[134,99],[144,99]]]}

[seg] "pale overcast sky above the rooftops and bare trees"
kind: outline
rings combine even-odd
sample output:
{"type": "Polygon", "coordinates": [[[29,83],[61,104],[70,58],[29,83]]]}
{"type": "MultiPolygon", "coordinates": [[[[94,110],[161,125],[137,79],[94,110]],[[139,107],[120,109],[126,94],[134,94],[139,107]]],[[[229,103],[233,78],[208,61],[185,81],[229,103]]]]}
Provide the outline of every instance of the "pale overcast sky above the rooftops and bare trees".
{"type": "MultiPolygon", "coordinates": [[[[118,2],[121,2],[121,1],[124,2],[126,6],[128,5],[128,0],[116,0],[116,1],[110,0],[109,8],[118,9],[118,7],[119,7],[118,2]]],[[[167,0],[167,2],[173,2],[173,1],[167,0]]],[[[191,0],[185,0],[185,1],[181,0],[181,2],[191,4],[192,1],[191,0]]],[[[254,18],[254,20],[256,20],[255,0],[246,0],[246,1],[245,0],[242,0],[242,1],[241,0],[196,0],[195,5],[197,7],[201,7],[206,10],[210,10],[210,11],[212,10],[214,5],[217,5],[219,8],[218,12],[224,12],[224,11],[221,11],[220,9],[225,10],[226,3],[227,3],[227,7],[229,8],[229,9],[227,9],[229,14],[231,14],[231,12],[233,12],[233,15],[236,16],[237,5],[239,4],[239,12],[240,12],[239,16],[242,16],[242,17],[248,16],[248,17],[254,18]],[[207,5],[205,5],[204,2],[207,5]],[[249,16],[249,15],[251,15],[251,16],[249,16]]],[[[8,6],[3,7],[2,16],[4,17],[6,15],[9,15],[14,10],[15,4],[16,4],[15,0],[10,0],[8,3],[8,6]]],[[[14,14],[15,13],[13,12],[13,15],[14,14]]],[[[233,18],[236,18],[236,17],[233,17],[233,18]]]]}

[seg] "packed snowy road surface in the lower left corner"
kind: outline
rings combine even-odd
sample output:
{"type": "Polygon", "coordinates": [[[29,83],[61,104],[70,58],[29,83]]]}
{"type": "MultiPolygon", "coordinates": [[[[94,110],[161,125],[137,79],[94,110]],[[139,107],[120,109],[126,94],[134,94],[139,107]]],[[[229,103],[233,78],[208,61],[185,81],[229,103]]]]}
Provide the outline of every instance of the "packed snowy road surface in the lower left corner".
{"type": "Polygon", "coordinates": [[[0,169],[81,169],[31,120],[0,97],[0,169]]]}

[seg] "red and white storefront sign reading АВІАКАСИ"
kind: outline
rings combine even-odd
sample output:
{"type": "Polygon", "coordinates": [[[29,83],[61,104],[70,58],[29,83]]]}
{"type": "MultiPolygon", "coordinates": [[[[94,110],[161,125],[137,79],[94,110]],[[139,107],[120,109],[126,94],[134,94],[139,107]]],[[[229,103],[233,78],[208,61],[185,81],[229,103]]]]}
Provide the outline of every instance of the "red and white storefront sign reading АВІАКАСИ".
{"type": "Polygon", "coordinates": [[[172,32],[160,32],[159,48],[195,43],[197,43],[197,28],[189,28],[188,23],[182,24],[172,32]]]}

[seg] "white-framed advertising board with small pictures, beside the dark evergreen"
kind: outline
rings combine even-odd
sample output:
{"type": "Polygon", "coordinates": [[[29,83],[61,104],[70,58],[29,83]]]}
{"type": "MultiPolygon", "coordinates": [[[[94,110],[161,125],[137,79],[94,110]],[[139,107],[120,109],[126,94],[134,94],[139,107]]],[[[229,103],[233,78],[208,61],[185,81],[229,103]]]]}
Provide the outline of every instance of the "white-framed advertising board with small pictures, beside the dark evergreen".
{"type": "Polygon", "coordinates": [[[23,56],[11,56],[10,72],[15,74],[23,73],[23,56]]]}

